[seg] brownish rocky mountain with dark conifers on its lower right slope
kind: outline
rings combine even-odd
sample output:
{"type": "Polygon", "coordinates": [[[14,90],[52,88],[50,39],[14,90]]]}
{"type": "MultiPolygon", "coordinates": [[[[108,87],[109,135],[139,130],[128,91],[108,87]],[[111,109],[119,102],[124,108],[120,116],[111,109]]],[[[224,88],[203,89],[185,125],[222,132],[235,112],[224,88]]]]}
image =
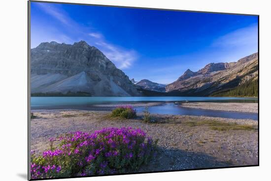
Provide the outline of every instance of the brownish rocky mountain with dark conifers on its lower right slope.
{"type": "Polygon", "coordinates": [[[210,63],[203,69],[187,70],[166,86],[179,96],[258,96],[258,53],[231,63],[210,63]]]}

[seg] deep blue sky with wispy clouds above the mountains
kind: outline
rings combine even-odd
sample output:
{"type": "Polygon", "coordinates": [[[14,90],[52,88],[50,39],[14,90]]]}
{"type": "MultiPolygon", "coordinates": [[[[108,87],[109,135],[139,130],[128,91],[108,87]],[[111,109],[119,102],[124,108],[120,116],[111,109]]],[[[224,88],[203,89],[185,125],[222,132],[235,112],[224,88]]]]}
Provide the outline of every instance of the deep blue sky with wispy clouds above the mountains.
{"type": "Polygon", "coordinates": [[[80,40],[129,78],[171,83],[188,68],[258,50],[258,17],[31,2],[31,48],[80,40]]]}

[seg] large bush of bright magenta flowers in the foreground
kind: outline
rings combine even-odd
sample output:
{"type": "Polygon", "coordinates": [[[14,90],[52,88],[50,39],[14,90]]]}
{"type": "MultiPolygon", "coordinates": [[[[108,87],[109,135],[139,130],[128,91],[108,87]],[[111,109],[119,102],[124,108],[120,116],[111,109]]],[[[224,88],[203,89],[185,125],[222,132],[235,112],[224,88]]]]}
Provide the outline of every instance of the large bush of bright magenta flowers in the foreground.
{"type": "Polygon", "coordinates": [[[50,138],[51,150],[31,156],[31,178],[134,172],[156,154],[156,142],[141,129],[106,128],[50,138]],[[53,142],[59,144],[53,146],[53,142]]]}

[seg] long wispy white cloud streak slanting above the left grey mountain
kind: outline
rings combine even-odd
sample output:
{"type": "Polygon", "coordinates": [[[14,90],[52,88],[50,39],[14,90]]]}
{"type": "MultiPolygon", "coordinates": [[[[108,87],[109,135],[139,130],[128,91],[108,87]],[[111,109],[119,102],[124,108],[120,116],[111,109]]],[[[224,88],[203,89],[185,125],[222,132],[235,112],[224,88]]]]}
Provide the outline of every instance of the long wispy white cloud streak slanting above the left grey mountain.
{"type": "MultiPolygon", "coordinates": [[[[120,69],[128,69],[132,67],[133,62],[137,59],[138,55],[135,50],[126,50],[115,44],[108,43],[105,36],[99,31],[89,31],[93,27],[78,25],[68,13],[54,4],[38,3],[42,11],[52,16],[64,26],[72,27],[72,30],[77,32],[77,40],[85,40],[90,42],[90,45],[96,45],[105,56],[110,59],[116,67],[120,69]]],[[[64,32],[61,32],[61,37],[56,37],[55,40],[62,40],[64,43],[71,43],[73,38],[68,37],[64,32]],[[65,42],[67,41],[67,42],[65,42]]],[[[50,39],[52,40],[52,38],[50,39]]],[[[59,42],[63,43],[63,42],[59,42]]]]}

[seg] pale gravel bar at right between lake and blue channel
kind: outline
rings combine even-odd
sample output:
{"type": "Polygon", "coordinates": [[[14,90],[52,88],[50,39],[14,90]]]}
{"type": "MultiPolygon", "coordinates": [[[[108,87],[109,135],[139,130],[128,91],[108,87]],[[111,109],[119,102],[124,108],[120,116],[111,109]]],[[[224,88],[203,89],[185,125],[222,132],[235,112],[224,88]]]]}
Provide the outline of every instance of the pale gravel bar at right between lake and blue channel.
{"type": "Polygon", "coordinates": [[[258,103],[181,103],[182,107],[258,113],[258,103]]]}

